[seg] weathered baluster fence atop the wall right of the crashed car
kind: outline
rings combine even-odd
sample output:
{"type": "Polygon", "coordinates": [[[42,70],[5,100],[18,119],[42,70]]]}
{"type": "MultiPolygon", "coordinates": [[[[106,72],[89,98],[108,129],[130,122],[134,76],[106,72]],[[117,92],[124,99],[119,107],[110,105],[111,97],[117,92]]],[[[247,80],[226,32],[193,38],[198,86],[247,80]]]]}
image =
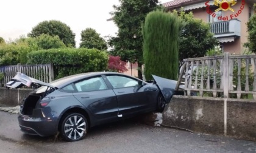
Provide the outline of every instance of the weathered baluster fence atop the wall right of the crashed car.
{"type": "Polygon", "coordinates": [[[256,55],[224,53],[184,62],[177,84],[185,84],[184,95],[256,100],[256,55]]]}

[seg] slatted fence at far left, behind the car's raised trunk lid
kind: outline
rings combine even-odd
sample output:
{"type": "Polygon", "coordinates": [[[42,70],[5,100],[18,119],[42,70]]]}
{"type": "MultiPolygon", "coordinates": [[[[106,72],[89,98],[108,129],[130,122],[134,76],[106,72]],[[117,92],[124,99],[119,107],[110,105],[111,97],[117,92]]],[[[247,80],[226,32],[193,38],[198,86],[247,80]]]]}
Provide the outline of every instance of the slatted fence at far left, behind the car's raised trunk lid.
{"type": "Polygon", "coordinates": [[[35,78],[37,80],[49,83],[54,79],[54,71],[52,64],[37,64],[37,65],[15,65],[2,66],[0,72],[4,73],[4,79],[0,80],[0,86],[3,87],[5,83],[9,82],[17,72],[35,78]]]}

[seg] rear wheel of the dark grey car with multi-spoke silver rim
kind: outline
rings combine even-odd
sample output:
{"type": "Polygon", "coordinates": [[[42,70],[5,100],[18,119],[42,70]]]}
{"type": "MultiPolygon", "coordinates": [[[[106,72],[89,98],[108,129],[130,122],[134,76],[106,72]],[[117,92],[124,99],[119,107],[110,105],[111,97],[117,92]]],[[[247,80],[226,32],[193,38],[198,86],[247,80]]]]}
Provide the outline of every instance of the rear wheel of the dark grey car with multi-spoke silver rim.
{"type": "Polygon", "coordinates": [[[64,116],[61,134],[66,141],[78,141],[85,137],[87,129],[87,118],[79,113],[71,113],[64,116]]]}

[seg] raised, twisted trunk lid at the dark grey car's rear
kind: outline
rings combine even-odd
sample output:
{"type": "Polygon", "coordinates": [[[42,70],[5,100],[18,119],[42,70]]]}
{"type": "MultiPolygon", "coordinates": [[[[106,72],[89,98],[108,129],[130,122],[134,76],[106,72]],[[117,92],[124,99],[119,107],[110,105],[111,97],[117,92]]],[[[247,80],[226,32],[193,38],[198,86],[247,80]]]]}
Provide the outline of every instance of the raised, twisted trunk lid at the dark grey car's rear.
{"type": "Polygon", "coordinates": [[[43,81],[36,80],[34,78],[27,77],[27,75],[24,75],[23,73],[17,72],[15,77],[11,79],[7,84],[5,84],[5,87],[10,87],[14,89],[18,89],[20,87],[27,86],[48,86],[54,88],[49,83],[44,83],[43,81]]]}

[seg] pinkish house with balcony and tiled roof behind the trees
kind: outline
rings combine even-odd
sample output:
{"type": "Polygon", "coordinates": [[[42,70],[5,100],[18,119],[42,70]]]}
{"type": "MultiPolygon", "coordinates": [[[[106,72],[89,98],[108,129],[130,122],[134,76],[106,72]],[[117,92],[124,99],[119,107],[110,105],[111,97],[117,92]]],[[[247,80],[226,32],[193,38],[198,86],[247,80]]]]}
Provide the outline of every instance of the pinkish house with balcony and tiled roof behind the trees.
{"type": "Polygon", "coordinates": [[[253,15],[253,4],[256,0],[174,0],[163,6],[168,10],[181,8],[193,12],[194,18],[210,23],[210,30],[219,40],[225,52],[241,54],[247,42],[246,22],[253,15]]]}

